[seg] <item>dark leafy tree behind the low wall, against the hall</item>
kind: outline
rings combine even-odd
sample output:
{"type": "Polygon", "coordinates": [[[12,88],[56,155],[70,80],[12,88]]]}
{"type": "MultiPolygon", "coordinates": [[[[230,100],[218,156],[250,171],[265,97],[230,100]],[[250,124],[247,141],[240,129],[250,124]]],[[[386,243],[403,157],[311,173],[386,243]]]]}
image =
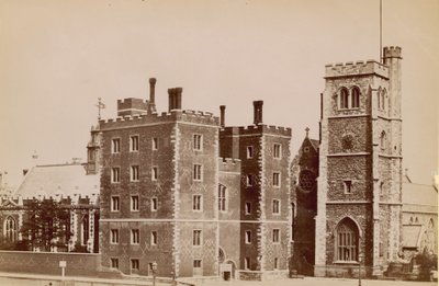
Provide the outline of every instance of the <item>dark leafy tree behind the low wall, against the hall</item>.
{"type": "Polygon", "coordinates": [[[54,199],[32,199],[26,206],[21,233],[29,237],[32,248],[49,251],[50,247],[59,240],[68,240],[71,236],[69,229],[69,209],[63,207],[54,199]]]}

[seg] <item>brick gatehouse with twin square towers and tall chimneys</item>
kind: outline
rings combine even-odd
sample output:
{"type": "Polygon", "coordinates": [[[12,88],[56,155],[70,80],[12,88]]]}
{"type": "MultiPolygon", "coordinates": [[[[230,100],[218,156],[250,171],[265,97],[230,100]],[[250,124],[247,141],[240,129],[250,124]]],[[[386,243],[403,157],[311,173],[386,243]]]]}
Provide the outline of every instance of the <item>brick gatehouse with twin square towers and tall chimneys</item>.
{"type": "Polygon", "coordinates": [[[168,112],[149,101],[117,101],[100,121],[102,265],[159,276],[286,275],[290,253],[291,129],[225,127],[211,113],[182,110],[169,89],[168,112]]]}

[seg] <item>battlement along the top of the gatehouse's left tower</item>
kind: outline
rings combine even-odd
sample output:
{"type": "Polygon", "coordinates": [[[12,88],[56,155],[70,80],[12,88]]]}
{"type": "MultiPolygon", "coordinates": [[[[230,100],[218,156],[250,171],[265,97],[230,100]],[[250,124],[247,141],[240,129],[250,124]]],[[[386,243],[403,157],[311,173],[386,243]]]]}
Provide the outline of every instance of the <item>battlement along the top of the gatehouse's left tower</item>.
{"type": "Polygon", "coordinates": [[[219,125],[219,118],[214,116],[211,112],[200,111],[180,111],[172,110],[167,113],[140,113],[134,115],[117,116],[115,119],[101,119],[99,121],[101,130],[112,129],[119,127],[136,127],[143,124],[158,124],[158,123],[172,123],[172,122],[188,122],[194,124],[205,125],[219,125]]]}

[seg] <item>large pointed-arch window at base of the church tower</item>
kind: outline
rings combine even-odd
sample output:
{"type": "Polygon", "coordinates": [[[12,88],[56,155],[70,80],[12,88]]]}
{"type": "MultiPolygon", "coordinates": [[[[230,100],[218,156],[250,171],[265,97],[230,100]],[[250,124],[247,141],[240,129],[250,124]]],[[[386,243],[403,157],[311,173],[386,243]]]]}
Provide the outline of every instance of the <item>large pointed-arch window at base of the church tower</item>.
{"type": "Polygon", "coordinates": [[[336,229],[336,260],[358,261],[358,237],[357,225],[350,219],[342,219],[336,229]]]}

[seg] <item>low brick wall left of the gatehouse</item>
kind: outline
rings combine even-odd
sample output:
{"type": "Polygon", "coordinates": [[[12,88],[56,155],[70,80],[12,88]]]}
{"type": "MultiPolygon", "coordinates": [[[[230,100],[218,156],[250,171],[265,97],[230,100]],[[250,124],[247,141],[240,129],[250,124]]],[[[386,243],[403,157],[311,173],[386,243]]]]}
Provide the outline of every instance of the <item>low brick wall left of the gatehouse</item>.
{"type": "Polygon", "coordinates": [[[66,261],[66,276],[98,276],[101,254],[66,252],[0,251],[0,272],[60,275],[59,261],[66,261]]]}

